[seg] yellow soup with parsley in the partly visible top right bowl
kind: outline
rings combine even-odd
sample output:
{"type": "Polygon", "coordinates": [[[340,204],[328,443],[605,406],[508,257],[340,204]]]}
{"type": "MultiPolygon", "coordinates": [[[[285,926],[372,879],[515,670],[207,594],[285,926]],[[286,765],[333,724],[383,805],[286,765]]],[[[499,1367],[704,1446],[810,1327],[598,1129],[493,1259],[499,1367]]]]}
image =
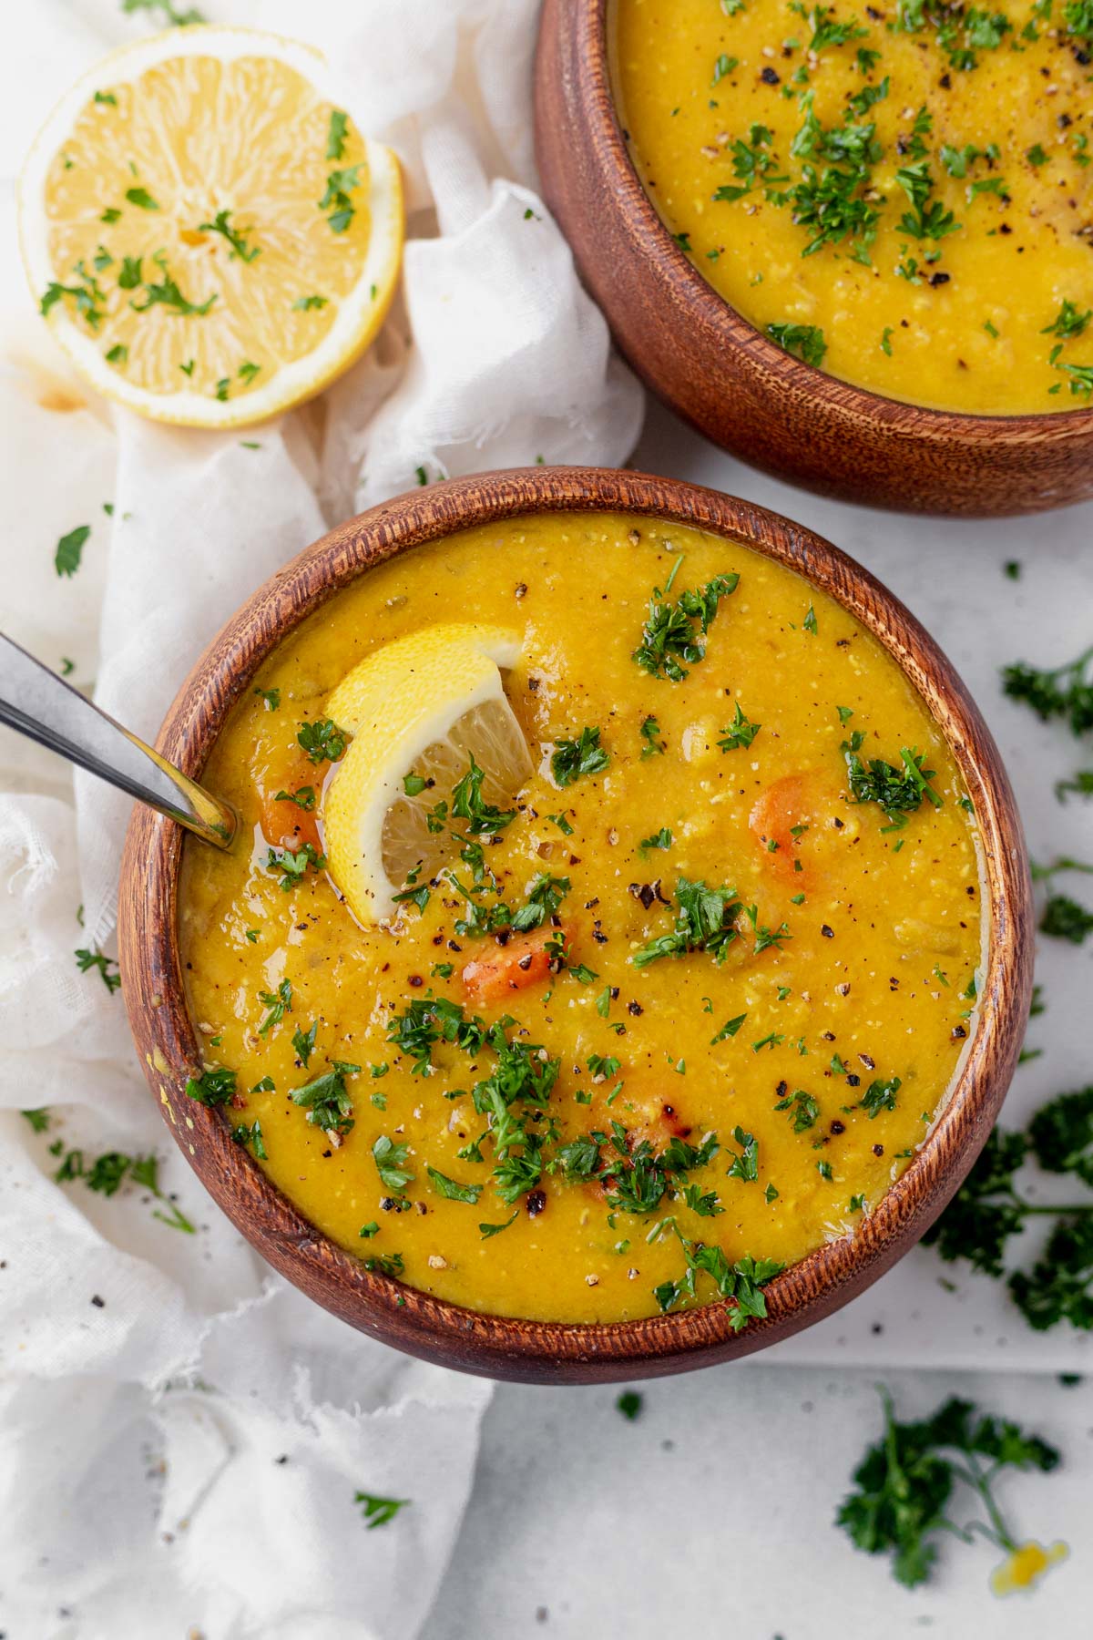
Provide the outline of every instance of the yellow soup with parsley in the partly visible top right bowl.
{"type": "Polygon", "coordinates": [[[639,175],[798,358],[977,413],[1093,397],[1093,5],[618,0],[639,175]]]}

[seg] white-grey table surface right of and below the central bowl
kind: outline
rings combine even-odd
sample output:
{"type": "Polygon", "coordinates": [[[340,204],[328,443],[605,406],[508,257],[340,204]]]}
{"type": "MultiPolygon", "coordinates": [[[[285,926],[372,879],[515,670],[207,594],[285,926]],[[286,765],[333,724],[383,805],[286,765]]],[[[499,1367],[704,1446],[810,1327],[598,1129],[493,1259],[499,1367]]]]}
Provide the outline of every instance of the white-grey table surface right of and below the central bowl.
{"type": "MultiPolygon", "coordinates": [[[[754,472],[659,405],[633,464],[801,518],[873,571],[978,700],[1032,858],[1093,858],[1093,804],[1054,795],[1093,748],[1006,700],[998,684],[1006,661],[1059,664],[1093,640],[1093,505],[1003,522],[867,512],[754,472]],[[1021,564],[1019,579],[1005,572],[1008,561],[1021,564]]],[[[1042,1053],[1016,1073],[1003,1112],[1011,1127],[1090,1081],[1093,950],[1041,938],[1036,977],[1047,1012],[1032,1020],[1029,1046],[1042,1053]]],[[[1027,1263],[1044,1235],[1029,1232],[1014,1256],[1027,1263]]],[[[1036,1622],[1054,1640],[1088,1640],[1093,1381],[1065,1386],[1059,1374],[1085,1371],[1090,1343],[1065,1325],[1031,1332],[1001,1282],[916,1248],[857,1302],[767,1355],[644,1386],[634,1422],[615,1410],[610,1389],[501,1386],[424,1635],[949,1640],[978,1629],[1026,1640],[1036,1622]],[[1072,1547],[1032,1596],[996,1601],[988,1576],[998,1553],[955,1540],[927,1588],[905,1592],[885,1561],[834,1528],[850,1469],[880,1430],[880,1378],[908,1417],[960,1394],[1062,1450],[1055,1474],[1003,1489],[1019,1533],[1072,1547]]]]}

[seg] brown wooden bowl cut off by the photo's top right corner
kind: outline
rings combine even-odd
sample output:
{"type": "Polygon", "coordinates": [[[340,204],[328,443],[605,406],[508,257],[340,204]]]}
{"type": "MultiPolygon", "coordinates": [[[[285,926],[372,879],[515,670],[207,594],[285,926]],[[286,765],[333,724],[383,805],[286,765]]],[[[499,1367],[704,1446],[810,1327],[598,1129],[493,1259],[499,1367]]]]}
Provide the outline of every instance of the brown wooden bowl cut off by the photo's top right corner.
{"type": "Polygon", "coordinates": [[[536,154],[542,195],[644,382],[724,449],[824,495],[965,517],[1093,497],[1093,407],[983,417],[900,403],[801,364],[706,284],[631,162],[608,5],[542,7],[536,154]]]}

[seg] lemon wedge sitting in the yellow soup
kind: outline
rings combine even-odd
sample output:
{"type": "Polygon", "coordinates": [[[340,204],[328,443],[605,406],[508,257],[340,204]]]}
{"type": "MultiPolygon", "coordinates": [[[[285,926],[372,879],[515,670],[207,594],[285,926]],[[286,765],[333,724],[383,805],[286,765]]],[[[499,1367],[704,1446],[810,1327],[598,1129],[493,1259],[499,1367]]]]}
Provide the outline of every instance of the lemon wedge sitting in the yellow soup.
{"type": "Polygon", "coordinates": [[[428,813],[451,797],[470,758],[483,771],[483,799],[498,809],[531,774],[501,682],[519,645],[500,626],[426,626],[370,654],[326,702],[326,715],[352,735],[323,800],[326,863],[359,922],[392,917],[408,874],[421,868],[424,882],[451,854],[451,838],[429,831],[428,813]]]}

